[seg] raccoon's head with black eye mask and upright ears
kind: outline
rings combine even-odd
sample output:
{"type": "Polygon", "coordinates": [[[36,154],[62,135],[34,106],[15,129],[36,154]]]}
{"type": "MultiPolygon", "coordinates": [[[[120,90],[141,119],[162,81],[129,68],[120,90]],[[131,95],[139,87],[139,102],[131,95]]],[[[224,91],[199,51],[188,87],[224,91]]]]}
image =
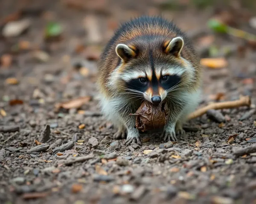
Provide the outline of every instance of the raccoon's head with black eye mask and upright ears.
{"type": "Polygon", "coordinates": [[[195,77],[192,64],[181,56],[183,45],[182,37],[151,37],[116,45],[120,59],[110,86],[128,99],[146,99],[153,104],[188,91],[195,77]]]}

